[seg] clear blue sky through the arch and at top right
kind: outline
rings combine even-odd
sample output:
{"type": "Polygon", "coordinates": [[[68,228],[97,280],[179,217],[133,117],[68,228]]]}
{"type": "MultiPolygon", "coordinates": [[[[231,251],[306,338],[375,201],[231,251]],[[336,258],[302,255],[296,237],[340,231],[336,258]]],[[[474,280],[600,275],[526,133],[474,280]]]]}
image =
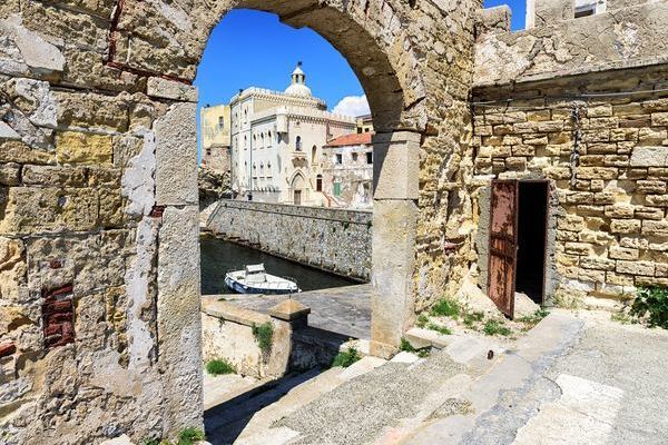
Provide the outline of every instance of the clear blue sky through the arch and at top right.
{"type": "MultiPolygon", "coordinates": [[[[510,4],[513,29],[521,29],[524,2],[485,0],[485,7],[510,4]]],[[[239,88],[283,91],[297,61],[304,63],[306,85],[330,109],[344,97],[364,93],[343,56],[316,32],[291,28],[271,13],[236,9],[213,30],[204,51],[195,79],[199,107],[225,103],[239,88]]]]}

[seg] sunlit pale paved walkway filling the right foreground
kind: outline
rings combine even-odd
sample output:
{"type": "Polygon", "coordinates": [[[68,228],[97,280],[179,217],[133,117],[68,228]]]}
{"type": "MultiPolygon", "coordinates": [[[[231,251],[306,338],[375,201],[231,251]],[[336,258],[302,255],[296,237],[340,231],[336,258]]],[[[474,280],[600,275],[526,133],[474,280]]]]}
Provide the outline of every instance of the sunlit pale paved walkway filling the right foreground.
{"type": "Polygon", "coordinates": [[[668,332],[609,318],[554,310],[514,344],[455,337],[426,360],[402,353],[307,382],[245,421],[237,443],[666,445],[668,332]]]}

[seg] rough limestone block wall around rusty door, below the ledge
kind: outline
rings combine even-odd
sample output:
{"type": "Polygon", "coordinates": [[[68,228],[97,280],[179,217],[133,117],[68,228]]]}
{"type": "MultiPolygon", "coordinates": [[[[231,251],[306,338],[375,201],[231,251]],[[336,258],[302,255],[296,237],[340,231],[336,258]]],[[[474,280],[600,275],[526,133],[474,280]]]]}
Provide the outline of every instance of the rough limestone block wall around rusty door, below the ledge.
{"type": "MultiPolygon", "coordinates": [[[[550,180],[549,297],[558,303],[668,285],[668,91],[642,92],[665,89],[667,78],[666,67],[646,68],[478,91],[502,103],[475,107],[473,214],[489,224],[492,178],[550,180]]],[[[479,283],[485,287],[484,273],[479,283]]]]}

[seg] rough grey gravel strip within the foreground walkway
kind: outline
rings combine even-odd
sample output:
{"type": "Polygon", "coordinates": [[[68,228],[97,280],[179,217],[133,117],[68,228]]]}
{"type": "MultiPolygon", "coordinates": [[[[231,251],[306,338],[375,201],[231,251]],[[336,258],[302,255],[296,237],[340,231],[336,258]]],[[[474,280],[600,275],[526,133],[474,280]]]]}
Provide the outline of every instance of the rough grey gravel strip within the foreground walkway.
{"type": "Polygon", "coordinates": [[[295,445],[355,445],[384,427],[414,415],[421,402],[448,378],[463,370],[438,353],[414,366],[387,363],[337,387],[274,426],[302,433],[295,445]]]}

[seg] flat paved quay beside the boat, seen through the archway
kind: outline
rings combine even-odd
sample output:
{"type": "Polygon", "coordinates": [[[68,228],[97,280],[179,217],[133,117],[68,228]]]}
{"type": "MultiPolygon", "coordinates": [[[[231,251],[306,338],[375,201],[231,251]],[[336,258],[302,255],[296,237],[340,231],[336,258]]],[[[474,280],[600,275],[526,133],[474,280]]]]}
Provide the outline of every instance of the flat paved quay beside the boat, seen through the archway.
{"type": "MultiPolygon", "coordinates": [[[[230,303],[267,313],[285,295],[224,295],[230,303]]],[[[371,335],[371,285],[335,287],[294,294],[292,298],[311,308],[308,326],[369,339],[371,335]]]]}

